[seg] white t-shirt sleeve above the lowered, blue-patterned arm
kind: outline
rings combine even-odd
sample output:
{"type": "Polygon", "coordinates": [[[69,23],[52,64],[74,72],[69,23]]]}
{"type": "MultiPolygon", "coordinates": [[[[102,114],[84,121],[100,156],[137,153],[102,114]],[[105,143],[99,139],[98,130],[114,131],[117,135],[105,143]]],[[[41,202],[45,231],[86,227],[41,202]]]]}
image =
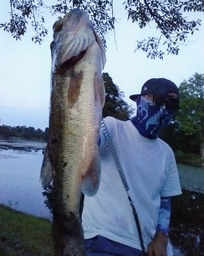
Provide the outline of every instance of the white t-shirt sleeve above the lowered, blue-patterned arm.
{"type": "Polygon", "coordinates": [[[173,151],[170,149],[169,165],[166,166],[166,179],[160,191],[161,197],[172,197],[182,194],[179,173],[173,151]]]}

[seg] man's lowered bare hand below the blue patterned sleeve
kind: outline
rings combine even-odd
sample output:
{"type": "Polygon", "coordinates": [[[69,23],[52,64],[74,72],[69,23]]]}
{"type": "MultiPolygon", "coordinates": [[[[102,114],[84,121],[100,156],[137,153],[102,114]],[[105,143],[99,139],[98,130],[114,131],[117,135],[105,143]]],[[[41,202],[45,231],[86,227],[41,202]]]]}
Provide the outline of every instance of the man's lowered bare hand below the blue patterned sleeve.
{"type": "Polygon", "coordinates": [[[147,247],[147,256],[167,256],[168,237],[163,232],[156,232],[155,238],[147,247]]]}

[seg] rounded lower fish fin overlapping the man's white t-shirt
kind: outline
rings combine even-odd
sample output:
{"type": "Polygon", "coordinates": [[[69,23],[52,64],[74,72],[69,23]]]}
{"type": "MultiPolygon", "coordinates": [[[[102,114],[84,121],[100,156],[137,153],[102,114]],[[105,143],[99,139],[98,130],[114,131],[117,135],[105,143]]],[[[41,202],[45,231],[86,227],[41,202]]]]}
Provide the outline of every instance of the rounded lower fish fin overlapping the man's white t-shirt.
{"type": "Polygon", "coordinates": [[[82,193],[88,197],[92,197],[96,194],[100,181],[100,156],[98,148],[95,149],[95,155],[91,161],[91,164],[83,177],[82,181],[82,193]]]}

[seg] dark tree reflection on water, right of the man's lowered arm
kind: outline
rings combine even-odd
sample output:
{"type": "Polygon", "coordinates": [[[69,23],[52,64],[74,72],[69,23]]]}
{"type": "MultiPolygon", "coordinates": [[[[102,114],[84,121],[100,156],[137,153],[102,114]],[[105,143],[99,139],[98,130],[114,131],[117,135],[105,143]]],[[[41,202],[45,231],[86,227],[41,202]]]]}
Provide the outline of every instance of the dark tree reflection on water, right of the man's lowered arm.
{"type": "MultiPolygon", "coordinates": [[[[204,255],[204,195],[183,189],[172,197],[170,240],[185,256],[204,255]]],[[[176,256],[176,255],[175,255],[176,256]]]]}

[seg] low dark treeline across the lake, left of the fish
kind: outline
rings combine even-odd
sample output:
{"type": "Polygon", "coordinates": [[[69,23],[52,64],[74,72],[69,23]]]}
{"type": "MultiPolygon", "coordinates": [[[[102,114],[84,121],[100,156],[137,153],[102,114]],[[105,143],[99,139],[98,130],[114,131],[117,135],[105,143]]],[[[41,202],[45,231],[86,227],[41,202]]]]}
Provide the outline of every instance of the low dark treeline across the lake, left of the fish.
{"type": "Polygon", "coordinates": [[[0,138],[9,139],[11,137],[17,137],[21,139],[30,139],[30,140],[43,140],[48,141],[48,127],[44,130],[35,129],[34,127],[26,127],[26,126],[8,126],[1,125],[0,126],[0,138]]]}

